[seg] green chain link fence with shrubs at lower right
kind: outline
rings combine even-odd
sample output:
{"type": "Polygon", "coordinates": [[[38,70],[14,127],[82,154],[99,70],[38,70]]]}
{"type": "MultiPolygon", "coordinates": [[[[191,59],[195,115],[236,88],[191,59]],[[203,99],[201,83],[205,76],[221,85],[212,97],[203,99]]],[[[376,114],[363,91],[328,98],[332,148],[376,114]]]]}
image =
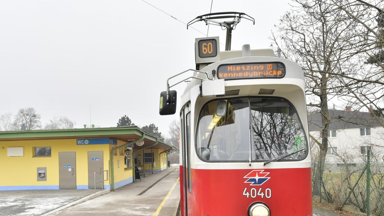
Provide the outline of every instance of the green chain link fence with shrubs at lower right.
{"type": "Polygon", "coordinates": [[[338,210],[384,216],[384,163],[312,161],[312,198],[338,210]]]}

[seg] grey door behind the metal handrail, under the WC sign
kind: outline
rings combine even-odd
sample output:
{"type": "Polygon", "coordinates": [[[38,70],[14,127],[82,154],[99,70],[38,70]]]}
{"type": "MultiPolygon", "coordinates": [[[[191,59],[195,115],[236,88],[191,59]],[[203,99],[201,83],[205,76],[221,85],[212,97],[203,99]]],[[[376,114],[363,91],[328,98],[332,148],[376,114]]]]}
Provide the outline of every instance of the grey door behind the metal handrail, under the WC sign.
{"type": "MultiPolygon", "coordinates": [[[[88,189],[95,189],[95,172],[103,171],[103,151],[88,152],[88,189]]],[[[96,182],[104,180],[104,173],[96,173],[96,182]]],[[[96,189],[101,189],[103,184],[96,183],[96,189]]]]}

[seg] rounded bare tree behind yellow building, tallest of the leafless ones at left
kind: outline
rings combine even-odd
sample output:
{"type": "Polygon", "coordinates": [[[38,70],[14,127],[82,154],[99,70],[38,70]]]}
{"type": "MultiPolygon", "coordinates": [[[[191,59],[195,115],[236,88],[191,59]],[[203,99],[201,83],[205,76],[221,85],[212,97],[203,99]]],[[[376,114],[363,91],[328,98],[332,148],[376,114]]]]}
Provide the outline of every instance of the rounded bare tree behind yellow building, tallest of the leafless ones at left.
{"type": "Polygon", "coordinates": [[[40,114],[37,114],[33,107],[19,109],[13,120],[13,129],[20,130],[23,124],[25,124],[26,130],[40,129],[40,119],[40,114]]]}

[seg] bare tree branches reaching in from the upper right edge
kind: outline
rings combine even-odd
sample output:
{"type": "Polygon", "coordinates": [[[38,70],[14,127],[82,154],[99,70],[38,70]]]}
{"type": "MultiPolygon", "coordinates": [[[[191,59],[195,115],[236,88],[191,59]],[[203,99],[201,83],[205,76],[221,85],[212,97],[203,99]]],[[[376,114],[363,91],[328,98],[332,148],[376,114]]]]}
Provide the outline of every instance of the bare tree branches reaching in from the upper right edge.
{"type": "Polygon", "coordinates": [[[384,127],[382,102],[384,99],[384,2],[332,0],[346,18],[356,23],[350,43],[349,58],[358,62],[359,73],[340,74],[340,81],[352,80],[341,92],[356,109],[366,108],[372,119],[384,127]]]}

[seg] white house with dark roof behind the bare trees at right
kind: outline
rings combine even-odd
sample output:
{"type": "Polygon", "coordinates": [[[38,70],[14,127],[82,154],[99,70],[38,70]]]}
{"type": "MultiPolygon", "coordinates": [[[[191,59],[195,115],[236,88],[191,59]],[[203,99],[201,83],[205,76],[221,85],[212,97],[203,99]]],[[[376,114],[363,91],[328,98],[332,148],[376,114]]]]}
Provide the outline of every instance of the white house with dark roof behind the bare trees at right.
{"type": "MultiPolygon", "coordinates": [[[[346,110],[329,110],[328,151],[326,163],[364,163],[366,150],[371,150],[372,162],[384,162],[384,129],[369,112],[346,110]]],[[[308,115],[310,135],[321,142],[321,114],[313,112],[308,115]]],[[[313,153],[316,154],[318,145],[313,139],[313,153]]],[[[314,158],[316,160],[316,158],[314,158]]]]}

